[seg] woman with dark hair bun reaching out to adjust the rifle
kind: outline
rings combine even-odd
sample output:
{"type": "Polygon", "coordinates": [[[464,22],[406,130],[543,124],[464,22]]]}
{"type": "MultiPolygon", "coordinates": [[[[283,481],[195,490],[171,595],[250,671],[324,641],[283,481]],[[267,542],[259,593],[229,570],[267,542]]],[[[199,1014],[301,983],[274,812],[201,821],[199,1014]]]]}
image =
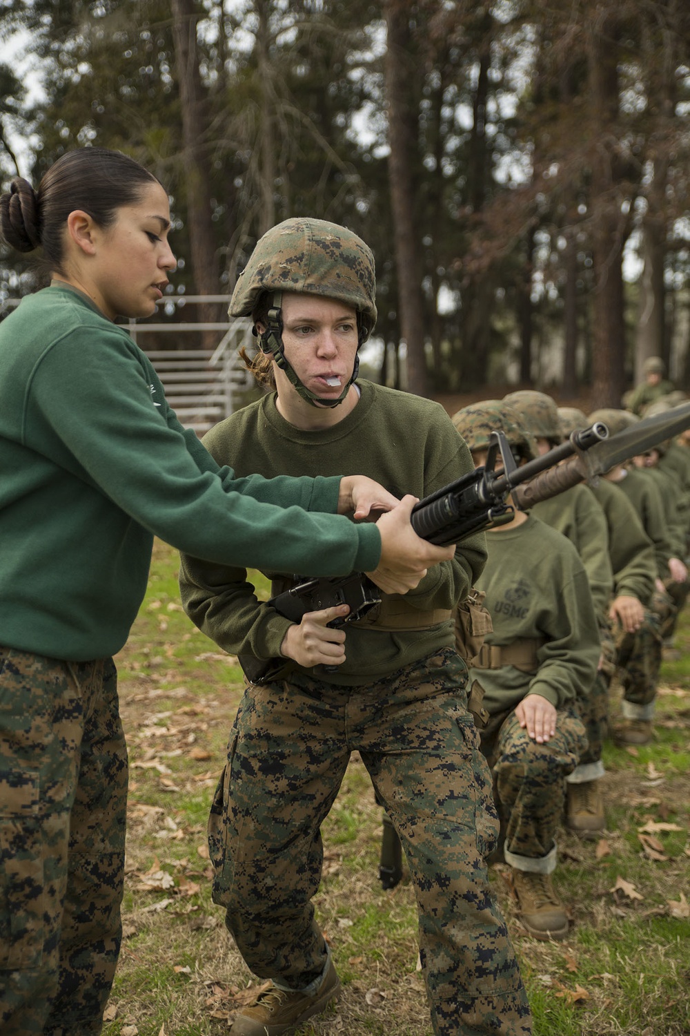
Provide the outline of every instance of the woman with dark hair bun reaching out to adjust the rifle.
{"type": "Polygon", "coordinates": [[[19,177],[0,198],[5,242],[40,247],[52,275],[0,324],[3,1036],[101,1029],[127,784],[112,656],[153,536],[221,565],[368,570],[398,593],[453,552],[414,534],[413,497],[358,476],[236,479],[182,428],[114,322],[155,311],[175,268],[170,227],[160,182],[102,148],[70,151],[37,191],[19,177]],[[344,517],[381,511],[376,525],[344,517]]]}

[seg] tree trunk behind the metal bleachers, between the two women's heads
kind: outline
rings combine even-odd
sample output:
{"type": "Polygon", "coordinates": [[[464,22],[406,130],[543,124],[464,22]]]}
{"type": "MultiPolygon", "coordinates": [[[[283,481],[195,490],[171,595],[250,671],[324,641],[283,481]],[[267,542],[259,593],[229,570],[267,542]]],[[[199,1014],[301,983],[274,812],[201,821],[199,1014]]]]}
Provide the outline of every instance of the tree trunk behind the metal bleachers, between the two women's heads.
{"type": "MultiPolygon", "coordinates": [[[[182,112],[184,172],[189,232],[189,258],[197,292],[214,295],[220,290],[215,235],[211,220],[211,186],[208,177],[208,154],[204,147],[206,112],[197,54],[197,22],[199,12],[193,0],[172,0],[175,63],[182,112]]],[[[202,304],[200,320],[218,319],[217,304],[202,304]]],[[[204,346],[212,348],[217,333],[202,336],[204,346]]]]}

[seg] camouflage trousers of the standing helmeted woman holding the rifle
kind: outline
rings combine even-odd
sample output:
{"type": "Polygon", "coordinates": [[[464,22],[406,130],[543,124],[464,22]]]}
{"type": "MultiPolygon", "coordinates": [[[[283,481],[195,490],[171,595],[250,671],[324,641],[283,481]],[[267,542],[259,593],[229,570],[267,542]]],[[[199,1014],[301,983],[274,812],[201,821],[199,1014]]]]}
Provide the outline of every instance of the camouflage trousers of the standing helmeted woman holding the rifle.
{"type": "Polygon", "coordinates": [[[250,685],[209,821],[213,898],[248,967],[312,989],[327,949],[311,898],[321,825],[359,751],[404,847],[440,1036],[528,1034],[530,1008],[485,856],[498,824],[490,775],[451,651],[367,687],[304,673],[250,685]]]}

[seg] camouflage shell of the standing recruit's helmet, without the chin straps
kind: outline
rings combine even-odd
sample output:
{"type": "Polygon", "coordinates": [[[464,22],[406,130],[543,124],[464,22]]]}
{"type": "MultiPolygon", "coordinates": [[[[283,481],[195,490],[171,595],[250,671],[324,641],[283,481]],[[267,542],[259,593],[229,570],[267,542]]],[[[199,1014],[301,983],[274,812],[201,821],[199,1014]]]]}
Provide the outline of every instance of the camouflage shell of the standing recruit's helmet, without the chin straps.
{"type": "Polygon", "coordinates": [[[337,298],[361,314],[367,333],[377,321],[371,250],[352,230],[325,220],[284,220],[257,241],[228,312],[251,316],[264,291],[337,298]]]}

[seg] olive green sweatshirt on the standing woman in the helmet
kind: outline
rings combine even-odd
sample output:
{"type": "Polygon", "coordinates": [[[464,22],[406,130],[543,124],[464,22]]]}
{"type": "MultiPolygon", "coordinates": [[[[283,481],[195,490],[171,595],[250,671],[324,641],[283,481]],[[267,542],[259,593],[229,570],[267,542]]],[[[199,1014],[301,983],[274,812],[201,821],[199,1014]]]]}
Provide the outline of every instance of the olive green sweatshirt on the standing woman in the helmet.
{"type": "MultiPolygon", "coordinates": [[[[218,463],[232,464],[238,474],[247,470],[267,477],[278,471],[335,474],[347,470],[356,457],[362,474],[398,496],[414,493],[421,498],[472,470],[463,440],[438,403],[369,381],[357,385],[359,402],[330,429],[295,428],[278,413],[273,394],[216,425],[204,443],[218,463]]],[[[406,602],[420,611],[452,609],[466,597],[484,558],[484,536],[472,537],[458,547],[454,560],[430,569],[404,596],[406,602]]],[[[271,566],[261,568],[270,578],[275,575],[271,566]]],[[[303,567],[301,574],[313,573],[303,567]]],[[[257,600],[244,568],[183,556],[180,589],[187,614],[222,649],[262,660],[280,657],[290,621],[257,600]]],[[[386,633],[351,626],[346,632],[347,660],[328,673],[329,683],[366,684],[454,643],[451,621],[427,630],[386,633]]],[[[324,679],[321,670],[319,678],[324,679]]]]}

